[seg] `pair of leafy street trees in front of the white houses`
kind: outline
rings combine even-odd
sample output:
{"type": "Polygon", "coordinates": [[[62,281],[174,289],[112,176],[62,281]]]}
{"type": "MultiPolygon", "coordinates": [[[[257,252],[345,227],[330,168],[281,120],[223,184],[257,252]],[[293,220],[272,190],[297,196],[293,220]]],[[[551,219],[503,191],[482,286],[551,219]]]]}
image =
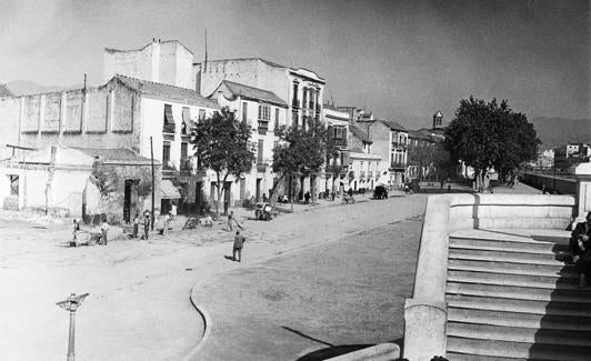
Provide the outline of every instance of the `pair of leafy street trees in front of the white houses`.
{"type": "MultiPolygon", "coordinates": [[[[216,173],[218,215],[224,182],[230,176],[239,179],[254,164],[256,144],[250,141],[251,133],[251,128],[238,120],[227,107],[196,124],[194,156],[199,160],[199,169],[211,169],[216,173]]],[[[278,133],[279,143],[273,149],[271,167],[279,181],[273,184],[271,193],[284,178],[309,177],[319,172],[324,160],[337,149],[328,137],[327,128],[315,119],[311,119],[305,129],[282,127],[278,133]]]]}

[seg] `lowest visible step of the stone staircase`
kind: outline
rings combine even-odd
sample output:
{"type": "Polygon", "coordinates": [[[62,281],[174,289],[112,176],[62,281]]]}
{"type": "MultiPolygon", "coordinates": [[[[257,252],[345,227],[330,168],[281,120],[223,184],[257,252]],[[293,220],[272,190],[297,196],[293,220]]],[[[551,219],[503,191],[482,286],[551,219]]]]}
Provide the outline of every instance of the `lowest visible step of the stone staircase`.
{"type": "MultiPolygon", "coordinates": [[[[560,361],[589,361],[591,355],[591,348],[585,347],[532,344],[455,337],[448,338],[448,351],[475,355],[560,361]]],[[[478,359],[472,358],[471,360],[478,359]]]]}

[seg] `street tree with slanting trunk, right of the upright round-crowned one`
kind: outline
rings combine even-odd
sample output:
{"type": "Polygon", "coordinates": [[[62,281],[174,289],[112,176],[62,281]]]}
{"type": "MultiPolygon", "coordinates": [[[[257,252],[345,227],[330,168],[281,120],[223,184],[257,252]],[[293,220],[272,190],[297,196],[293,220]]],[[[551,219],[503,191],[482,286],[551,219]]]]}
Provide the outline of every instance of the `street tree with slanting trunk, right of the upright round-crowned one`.
{"type": "MultiPolygon", "coordinates": [[[[273,172],[279,174],[278,182],[271,190],[273,193],[284,177],[309,177],[319,172],[324,164],[328,149],[327,128],[315,119],[312,119],[305,129],[280,128],[279,139],[279,144],[273,149],[272,168],[273,172]]],[[[293,202],[291,207],[293,209],[293,202]]]]}

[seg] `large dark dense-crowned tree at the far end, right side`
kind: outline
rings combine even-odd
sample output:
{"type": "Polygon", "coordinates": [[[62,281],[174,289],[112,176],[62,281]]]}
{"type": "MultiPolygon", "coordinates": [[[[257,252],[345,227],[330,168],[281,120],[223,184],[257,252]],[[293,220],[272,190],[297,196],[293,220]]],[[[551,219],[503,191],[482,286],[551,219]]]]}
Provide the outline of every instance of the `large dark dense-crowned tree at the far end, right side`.
{"type": "Polygon", "coordinates": [[[515,113],[507,100],[462,99],[445,129],[444,146],[455,161],[474,169],[482,183],[487,170],[494,167],[508,174],[535,158],[540,140],[522,113],[515,113]]]}

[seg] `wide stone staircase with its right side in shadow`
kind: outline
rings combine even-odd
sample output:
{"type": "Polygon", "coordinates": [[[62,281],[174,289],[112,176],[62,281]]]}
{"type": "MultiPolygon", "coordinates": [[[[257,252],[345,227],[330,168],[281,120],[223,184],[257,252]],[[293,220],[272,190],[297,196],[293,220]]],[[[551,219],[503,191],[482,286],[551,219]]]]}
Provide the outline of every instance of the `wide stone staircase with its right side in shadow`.
{"type": "Polygon", "coordinates": [[[591,360],[591,287],[568,239],[450,237],[447,358],[591,360]],[[552,239],[554,240],[554,239],[552,239]]]}

